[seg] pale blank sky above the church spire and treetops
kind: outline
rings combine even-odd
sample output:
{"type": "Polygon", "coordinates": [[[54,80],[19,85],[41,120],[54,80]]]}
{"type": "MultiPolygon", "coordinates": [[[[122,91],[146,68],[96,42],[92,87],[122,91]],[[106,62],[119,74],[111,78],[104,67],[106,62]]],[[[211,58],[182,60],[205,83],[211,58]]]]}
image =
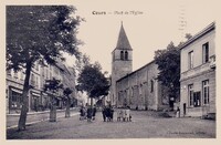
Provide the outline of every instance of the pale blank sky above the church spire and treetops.
{"type": "MultiPolygon", "coordinates": [[[[180,13],[187,21],[185,33],[196,34],[215,20],[213,0],[84,0],[73,6],[76,14],[86,20],[78,29],[77,38],[85,43],[80,50],[109,74],[122,22],[133,48],[135,71],[152,61],[156,50],[181,41],[180,13]]],[[[67,59],[67,64],[72,63],[73,59],[67,59]]]]}

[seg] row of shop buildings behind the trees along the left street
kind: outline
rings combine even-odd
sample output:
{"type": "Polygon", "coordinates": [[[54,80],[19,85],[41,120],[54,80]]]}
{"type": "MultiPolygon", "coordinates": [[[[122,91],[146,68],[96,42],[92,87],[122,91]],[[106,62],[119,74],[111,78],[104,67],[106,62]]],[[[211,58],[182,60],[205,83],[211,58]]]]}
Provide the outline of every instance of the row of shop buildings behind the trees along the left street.
{"type": "MultiPolygon", "coordinates": [[[[7,71],[7,113],[20,112],[21,110],[24,76],[24,70],[19,72],[7,71]]],[[[30,75],[30,90],[28,94],[29,111],[44,111],[50,108],[51,99],[49,93],[44,91],[44,84],[46,80],[53,77],[61,80],[65,86],[71,87],[73,90],[72,95],[75,96],[75,81],[73,81],[75,80],[75,75],[72,69],[66,69],[61,62],[56,66],[45,66],[35,63],[30,75]],[[69,83],[66,83],[66,80],[69,80],[69,83]]],[[[57,108],[63,108],[65,106],[63,90],[60,90],[56,95],[56,106],[57,108]]]]}

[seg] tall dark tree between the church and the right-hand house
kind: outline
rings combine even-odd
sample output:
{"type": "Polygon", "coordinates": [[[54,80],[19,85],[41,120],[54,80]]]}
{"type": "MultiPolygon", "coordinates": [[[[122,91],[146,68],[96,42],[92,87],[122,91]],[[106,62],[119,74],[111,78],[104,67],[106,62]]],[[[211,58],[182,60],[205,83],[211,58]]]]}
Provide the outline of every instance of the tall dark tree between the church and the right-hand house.
{"type": "Polygon", "coordinates": [[[165,50],[155,52],[155,61],[158,64],[158,80],[168,87],[170,106],[173,107],[172,99],[179,100],[180,92],[180,50],[172,42],[165,50]]]}

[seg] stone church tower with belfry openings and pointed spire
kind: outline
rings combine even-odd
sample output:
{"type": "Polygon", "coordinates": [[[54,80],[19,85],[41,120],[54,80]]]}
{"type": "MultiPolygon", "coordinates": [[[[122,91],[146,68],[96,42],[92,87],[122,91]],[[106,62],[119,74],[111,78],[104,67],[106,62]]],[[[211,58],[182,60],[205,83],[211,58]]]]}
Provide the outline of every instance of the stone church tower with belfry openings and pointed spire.
{"type": "Polygon", "coordinates": [[[112,52],[112,87],[110,103],[117,105],[116,81],[131,73],[133,49],[125,33],[123,22],[119,30],[117,45],[112,52]]]}

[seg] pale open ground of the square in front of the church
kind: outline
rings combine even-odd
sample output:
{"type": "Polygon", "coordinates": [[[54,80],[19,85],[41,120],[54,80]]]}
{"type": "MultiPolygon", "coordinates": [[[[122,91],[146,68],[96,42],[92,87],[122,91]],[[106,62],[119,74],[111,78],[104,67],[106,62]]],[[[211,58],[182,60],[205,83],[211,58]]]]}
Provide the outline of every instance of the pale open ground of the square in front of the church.
{"type": "Polygon", "coordinates": [[[215,121],[158,116],[157,112],[131,111],[131,122],[103,122],[97,112],[93,122],[78,115],[57,122],[43,121],[25,131],[7,130],[7,139],[104,139],[104,138],[215,138],[215,121]]]}

